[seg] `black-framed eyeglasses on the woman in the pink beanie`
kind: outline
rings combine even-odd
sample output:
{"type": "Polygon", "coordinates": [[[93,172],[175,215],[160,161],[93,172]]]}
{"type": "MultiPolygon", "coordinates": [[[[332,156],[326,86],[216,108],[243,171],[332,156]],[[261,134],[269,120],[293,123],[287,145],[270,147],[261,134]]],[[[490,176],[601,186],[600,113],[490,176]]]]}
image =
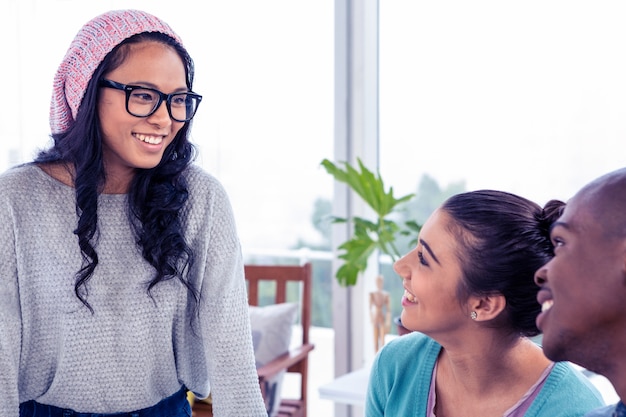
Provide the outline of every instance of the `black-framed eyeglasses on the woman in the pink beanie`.
{"type": "Polygon", "coordinates": [[[148,117],[165,101],[170,117],[177,122],[188,122],[196,114],[202,96],[192,91],[165,94],[154,88],[126,85],[102,78],[100,87],[114,88],[126,93],[126,111],[135,117],[148,117]]]}

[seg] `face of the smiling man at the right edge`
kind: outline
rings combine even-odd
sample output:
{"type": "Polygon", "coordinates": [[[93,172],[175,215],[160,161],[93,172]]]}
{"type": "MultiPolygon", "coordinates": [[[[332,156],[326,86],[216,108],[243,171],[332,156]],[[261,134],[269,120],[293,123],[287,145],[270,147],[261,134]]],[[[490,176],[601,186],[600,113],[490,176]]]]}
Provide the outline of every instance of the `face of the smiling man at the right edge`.
{"type": "Polygon", "coordinates": [[[623,349],[626,333],[626,239],[607,233],[600,219],[610,215],[587,193],[576,195],[551,231],[554,258],[535,274],[546,356],[596,372],[623,349]]]}

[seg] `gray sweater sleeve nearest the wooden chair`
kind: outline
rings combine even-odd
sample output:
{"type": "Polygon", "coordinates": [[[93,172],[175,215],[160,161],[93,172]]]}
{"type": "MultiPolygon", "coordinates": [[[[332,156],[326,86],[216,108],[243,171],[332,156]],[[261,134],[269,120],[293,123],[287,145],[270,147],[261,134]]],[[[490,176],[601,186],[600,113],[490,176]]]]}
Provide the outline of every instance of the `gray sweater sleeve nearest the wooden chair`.
{"type": "Polygon", "coordinates": [[[265,417],[243,260],[228,197],[215,182],[200,289],[200,324],[216,417],[265,417]]]}

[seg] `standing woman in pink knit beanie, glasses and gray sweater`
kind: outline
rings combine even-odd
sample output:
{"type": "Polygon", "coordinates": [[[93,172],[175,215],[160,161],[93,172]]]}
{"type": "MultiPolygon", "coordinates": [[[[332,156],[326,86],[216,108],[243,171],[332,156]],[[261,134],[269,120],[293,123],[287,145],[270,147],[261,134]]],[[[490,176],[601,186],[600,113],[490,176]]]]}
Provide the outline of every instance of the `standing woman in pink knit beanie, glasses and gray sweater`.
{"type": "Polygon", "coordinates": [[[266,416],[240,244],[189,141],[202,97],[162,20],[87,22],[53,144],[0,176],[0,417],[266,416]]]}

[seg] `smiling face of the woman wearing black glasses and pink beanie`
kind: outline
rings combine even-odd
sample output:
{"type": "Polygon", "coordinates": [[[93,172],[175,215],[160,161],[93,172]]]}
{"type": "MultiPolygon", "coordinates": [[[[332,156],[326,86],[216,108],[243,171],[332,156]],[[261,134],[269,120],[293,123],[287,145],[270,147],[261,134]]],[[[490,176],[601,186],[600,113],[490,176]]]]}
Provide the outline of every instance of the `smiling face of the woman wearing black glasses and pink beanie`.
{"type": "MultiPolygon", "coordinates": [[[[155,41],[128,45],[128,56],[104,78],[139,85],[164,93],[187,91],[185,67],[177,52],[155,41]]],[[[148,117],[126,111],[124,91],[101,88],[98,115],[103,133],[107,177],[132,178],[135,169],[159,164],[165,148],[184,123],[172,120],[165,102],[148,117]]]]}

